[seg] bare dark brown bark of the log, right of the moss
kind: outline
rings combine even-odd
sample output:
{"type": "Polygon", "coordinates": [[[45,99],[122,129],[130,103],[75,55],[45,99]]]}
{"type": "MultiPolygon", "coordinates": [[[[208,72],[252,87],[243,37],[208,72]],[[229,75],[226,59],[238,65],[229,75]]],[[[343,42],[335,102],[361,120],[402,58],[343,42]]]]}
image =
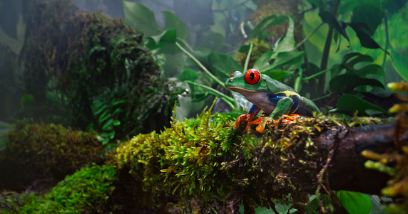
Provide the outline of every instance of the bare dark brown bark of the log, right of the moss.
{"type": "MultiPolygon", "coordinates": [[[[352,129],[340,127],[316,137],[315,144],[322,153],[327,151],[329,154],[330,149],[335,149],[327,168],[330,188],[379,194],[390,177],[386,173],[365,168],[367,159],[361,153],[366,149],[379,154],[394,151],[394,126],[393,122],[352,129]]],[[[407,144],[408,134],[405,133],[402,139],[407,144]]]]}

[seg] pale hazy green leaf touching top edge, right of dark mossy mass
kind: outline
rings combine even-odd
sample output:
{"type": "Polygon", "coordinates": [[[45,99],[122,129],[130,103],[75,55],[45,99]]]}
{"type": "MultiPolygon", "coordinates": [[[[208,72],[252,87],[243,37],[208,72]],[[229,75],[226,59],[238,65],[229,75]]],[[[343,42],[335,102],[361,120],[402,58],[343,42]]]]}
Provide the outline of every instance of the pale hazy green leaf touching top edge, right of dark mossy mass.
{"type": "Polygon", "coordinates": [[[162,29],[155,21],[154,12],[143,4],[123,1],[125,23],[133,29],[143,31],[144,36],[153,36],[162,33],[162,29]]]}

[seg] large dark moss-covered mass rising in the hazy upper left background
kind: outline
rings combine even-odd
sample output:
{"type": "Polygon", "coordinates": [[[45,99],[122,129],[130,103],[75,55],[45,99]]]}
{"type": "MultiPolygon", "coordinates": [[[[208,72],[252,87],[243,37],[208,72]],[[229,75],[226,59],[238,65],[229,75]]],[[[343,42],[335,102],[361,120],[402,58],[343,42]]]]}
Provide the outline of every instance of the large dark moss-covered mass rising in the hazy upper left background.
{"type": "Polygon", "coordinates": [[[68,124],[115,131],[115,139],[170,124],[181,90],[160,73],[140,32],[120,18],[82,13],[71,1],[30,1],[27,10],[21,61],[37,107],[51,105],[46,98],[51,90],[66,107],[68,124]],[[118,120],[120,127],[105,126],[96,115],[93,106],[100,97],[108,121],[118,120]]]}

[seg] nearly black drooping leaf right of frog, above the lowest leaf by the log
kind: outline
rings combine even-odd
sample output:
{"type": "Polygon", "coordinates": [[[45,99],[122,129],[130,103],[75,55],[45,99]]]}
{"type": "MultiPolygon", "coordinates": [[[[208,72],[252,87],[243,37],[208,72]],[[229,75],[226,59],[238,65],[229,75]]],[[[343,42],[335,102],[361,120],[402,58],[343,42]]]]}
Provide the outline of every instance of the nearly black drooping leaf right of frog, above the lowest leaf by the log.
{"type": "Polygon", "coordinates": [[[347,73],[343,75],[337,75],[330,80],[331,92],[345,92],[347,90],[354,90],[355,87],[360,85],[370,85],[373,87],[382,87],[384,85],[379,80],[371,78],[362,78],[358,75],[347,73]]]}

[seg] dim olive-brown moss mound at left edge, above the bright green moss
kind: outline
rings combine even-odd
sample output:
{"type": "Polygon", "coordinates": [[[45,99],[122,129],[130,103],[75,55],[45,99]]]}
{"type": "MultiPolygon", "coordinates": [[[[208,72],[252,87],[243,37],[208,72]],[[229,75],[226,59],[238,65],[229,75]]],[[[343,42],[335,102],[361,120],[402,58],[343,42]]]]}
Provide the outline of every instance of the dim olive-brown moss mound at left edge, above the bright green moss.
{"type": "Polygon", "coordinates": [[[22,191],[37,179],[58,181],[86,164],[100,162],[101,149],[94,132],[19,122],[0,152],[0,189],[22,191]]]}

